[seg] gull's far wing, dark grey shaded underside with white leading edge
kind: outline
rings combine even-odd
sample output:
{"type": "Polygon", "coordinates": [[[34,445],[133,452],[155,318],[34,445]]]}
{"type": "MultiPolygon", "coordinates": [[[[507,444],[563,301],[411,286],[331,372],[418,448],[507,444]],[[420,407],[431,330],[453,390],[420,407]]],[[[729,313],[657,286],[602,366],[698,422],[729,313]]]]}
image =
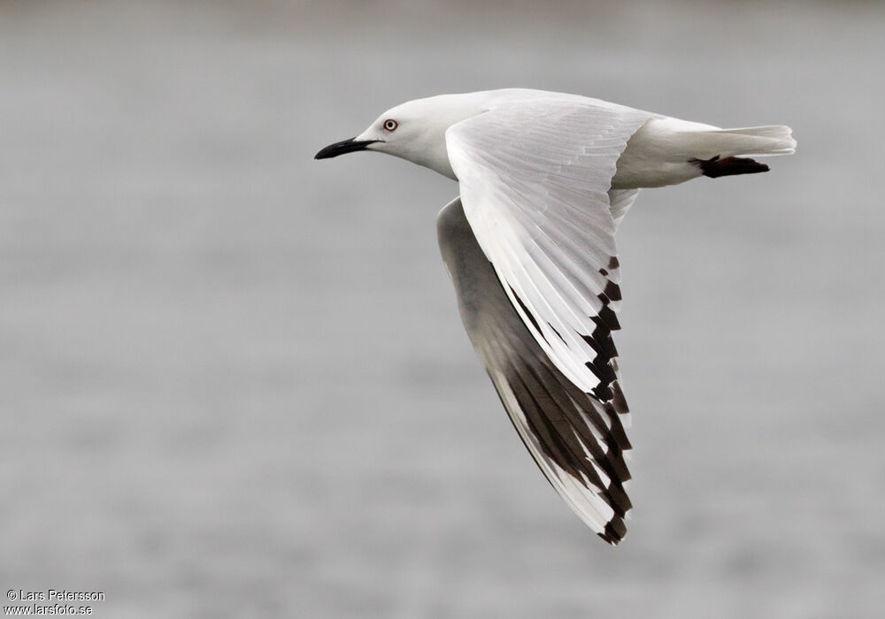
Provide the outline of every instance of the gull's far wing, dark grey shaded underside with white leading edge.
{"type": "MultiPolygon", "coordinates": [[[[569,507],[617,544],[631,507],[623,485],[630,478],[624,462],[630,443],[621,421],[627,402],[618,379],[608,386],[611,399],[602,401],[551,363],[477,243],[459,198],[440,211],[437,232],[466,332],[519,437],[569,507]]],[[[617,373],[610,335],[596,335],[617,373]]]]}

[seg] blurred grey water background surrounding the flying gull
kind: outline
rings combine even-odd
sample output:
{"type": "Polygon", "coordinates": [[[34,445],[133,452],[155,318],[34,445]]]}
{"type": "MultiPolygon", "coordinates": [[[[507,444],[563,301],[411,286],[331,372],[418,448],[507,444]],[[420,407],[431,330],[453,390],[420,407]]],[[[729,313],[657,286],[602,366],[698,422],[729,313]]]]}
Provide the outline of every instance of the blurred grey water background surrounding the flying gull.
{"type": "Polygon", "coordinates": [[[879,617],[885,7],[0,2],[0,585],[108,617],[879,617]],[[789,124],[620,231],[635,511],[558,499],[438,256],[449,180],[315,162],[524,86],[789,124]]]}

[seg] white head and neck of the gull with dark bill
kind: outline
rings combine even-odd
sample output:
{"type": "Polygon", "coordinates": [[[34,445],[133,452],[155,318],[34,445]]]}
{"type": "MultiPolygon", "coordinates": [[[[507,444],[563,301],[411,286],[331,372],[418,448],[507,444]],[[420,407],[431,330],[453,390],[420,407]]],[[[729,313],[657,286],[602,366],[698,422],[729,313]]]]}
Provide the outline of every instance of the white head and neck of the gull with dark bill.
{"type": "Polygon", "coordinates": [[[362,134],[330,144],[314,158],[372,150],[456,179],[449,163],[445,132],[450,126],[486,111],[488,100],[483,95],[440,95],[402,103],[381,114],[362,134]]]}

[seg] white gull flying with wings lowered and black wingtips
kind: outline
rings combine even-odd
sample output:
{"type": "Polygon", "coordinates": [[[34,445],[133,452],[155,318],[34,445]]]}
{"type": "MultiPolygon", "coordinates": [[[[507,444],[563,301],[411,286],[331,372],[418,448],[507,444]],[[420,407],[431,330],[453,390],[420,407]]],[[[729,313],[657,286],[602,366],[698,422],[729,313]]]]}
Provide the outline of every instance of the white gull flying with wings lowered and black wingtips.
{"type": "Polygon", "coordinates": [[[613,545],[632,508],[618,225],[642,188],[767,172],[750,157],[793,153],[791,133],[507,88],[402,103],[315,158],[377,151],[458,181],[436,227],[467,335],[550,485],[613,545]]]}

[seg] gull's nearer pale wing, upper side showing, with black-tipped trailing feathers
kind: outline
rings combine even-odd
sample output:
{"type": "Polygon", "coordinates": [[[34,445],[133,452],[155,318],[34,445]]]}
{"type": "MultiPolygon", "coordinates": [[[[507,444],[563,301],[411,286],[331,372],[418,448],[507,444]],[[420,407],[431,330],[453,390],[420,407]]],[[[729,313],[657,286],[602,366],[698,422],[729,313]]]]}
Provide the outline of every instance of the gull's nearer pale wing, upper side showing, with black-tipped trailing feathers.
{"type": "MultiPolygon", "coordinates": [[[[533,98],[446,133],[467,221],[504,291],[559,371],[602,400],[611,372],[594,332],[620,328],[609,187],[649,118],[584,97],[533,98]]],[[[635,195],[616,197],[619,206],[635,195]]]]}

